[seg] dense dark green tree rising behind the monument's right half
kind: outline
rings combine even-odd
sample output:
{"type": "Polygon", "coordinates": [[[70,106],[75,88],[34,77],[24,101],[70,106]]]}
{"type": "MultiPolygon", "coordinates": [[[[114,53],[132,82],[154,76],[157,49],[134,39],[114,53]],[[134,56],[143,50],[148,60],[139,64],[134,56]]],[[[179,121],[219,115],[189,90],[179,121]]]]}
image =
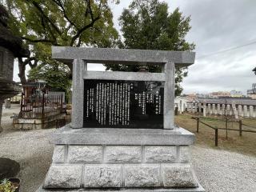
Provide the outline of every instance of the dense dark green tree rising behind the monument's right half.
{"type": "MultiPolygon", "coordinates": [[[[177,8],[168,13],[166,2],[158,0],[134,0],[119,18],[123,41],[120,48],[144,50],[194,50],[194,44],[186,42],[190,30],[190,17],[183,17],[177,8]]],[[[106,65],[107,70],[138,71],[138,66],[106,65]]],[[[149,66],[150,72],[160,72],[159,66],[149,66]]],[[[182,93],[180,82],[187,75],[186,67],[176,68],[175,95],[182,93]]]]}

